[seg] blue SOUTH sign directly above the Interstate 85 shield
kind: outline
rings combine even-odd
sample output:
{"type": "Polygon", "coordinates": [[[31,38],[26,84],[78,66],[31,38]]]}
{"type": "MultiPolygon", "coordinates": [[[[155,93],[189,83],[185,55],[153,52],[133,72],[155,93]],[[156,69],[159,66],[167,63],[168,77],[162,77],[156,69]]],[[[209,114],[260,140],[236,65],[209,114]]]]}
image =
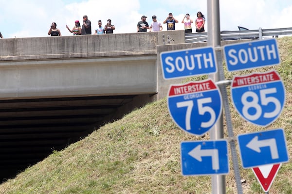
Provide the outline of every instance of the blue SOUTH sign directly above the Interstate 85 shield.
{"type": "Polygon", "coordinates": [[[275,39],[226,45],[224,55],[228,71],[280,64],[275,39]]]}

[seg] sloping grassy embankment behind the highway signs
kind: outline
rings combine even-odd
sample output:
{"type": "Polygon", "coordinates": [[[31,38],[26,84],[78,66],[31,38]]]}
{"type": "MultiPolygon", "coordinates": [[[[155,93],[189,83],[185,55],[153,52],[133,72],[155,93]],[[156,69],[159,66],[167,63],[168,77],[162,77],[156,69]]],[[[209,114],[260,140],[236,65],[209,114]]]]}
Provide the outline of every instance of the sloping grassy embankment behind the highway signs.
{"type": "MultiPolygon", "coordinates": [[[[271,126],[259,128],[244,121],[232,103],[230,111],[235,135],[283,128],[292,155],[292,37],[280,38],[278,45],[281,65],[236,74],[276,69],[286,88],[281,116],[271,126]]],[[[232,79],[234,74],[226,72],[225,77],[232,79]]],[[[179,129],[169,116],[164,98],[101,127],[62,151],[54,151],[42,162],[1,184],[0,194],[211,194],[210,176],[181,175],[180,142],[201,139],[208,140],[209,133],[201,138],[179,129]]],[[[263,194],[251,169],[243,169],[241,164],[239,167],[241,178],[246,179],[243,193],[263,194]]],[[[230,168],[226,193],[235,194],[231,157],[230,168]]],[[[291,177],[292,163],[288,162],[280,168],[270,193],[292,194],[291,177]]]]}

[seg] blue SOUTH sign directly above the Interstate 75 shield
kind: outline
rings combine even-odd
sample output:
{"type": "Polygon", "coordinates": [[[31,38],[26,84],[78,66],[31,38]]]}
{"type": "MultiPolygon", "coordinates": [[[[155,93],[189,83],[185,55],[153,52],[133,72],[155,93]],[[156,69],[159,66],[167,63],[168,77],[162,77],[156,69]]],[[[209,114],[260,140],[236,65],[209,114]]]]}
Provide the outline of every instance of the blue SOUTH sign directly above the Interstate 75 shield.
{"type": "Polygon", "coordinates": [[[212,47],[162,52],[160,61],[163,77],[167,80],[216,73],[214,53],[212,47]]]}

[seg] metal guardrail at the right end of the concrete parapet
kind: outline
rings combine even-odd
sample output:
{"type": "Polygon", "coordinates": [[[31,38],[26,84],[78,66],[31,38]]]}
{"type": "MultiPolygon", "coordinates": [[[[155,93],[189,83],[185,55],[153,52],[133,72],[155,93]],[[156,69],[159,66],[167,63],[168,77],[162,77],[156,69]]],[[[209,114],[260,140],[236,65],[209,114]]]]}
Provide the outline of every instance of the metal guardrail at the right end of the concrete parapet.
{"type": "MultiPolygon", "coordinates": [[[[262,39],[263,36],[292,34],[292,28],[261,29],[247,31],[221,31],[222,40],[262,39]]],[[[207,32],[185,33],[186,43],[205,42],[208,40],[207,32]]]]}

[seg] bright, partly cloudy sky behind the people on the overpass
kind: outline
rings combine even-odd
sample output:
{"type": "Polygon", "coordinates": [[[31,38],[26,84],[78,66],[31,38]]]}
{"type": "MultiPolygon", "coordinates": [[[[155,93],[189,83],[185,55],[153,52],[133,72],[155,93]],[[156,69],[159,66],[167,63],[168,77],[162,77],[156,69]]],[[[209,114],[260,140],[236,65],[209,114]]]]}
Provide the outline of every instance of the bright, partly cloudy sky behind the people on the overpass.
{"type": "MultiPolygon", "coordinates": [[[[74,21],[87,15],[94,33],[98,20],[104,26],[108,19],[116,27],[114,33],[132,33],[137,30],[141,16],[151,16],[163,24],[168,13],[179,20],[176,30],[183,30],[183,16],[194,20],[198,11],[206,17],[208,31],[208,0],[0,0],[0,32],[4,38],[44,37],[52,22],[56,22],[62,36],[73,35],[66,29],[74,21]]],[[[292,0],[219,0],[220,30],[235,31],[237,26],[250,30],[292,27],[292,0]]],[[[82,23],[81,23],[82,25],[82,23]]],[[[195,24],[192,24],[195,32],[195,24]]]]}

